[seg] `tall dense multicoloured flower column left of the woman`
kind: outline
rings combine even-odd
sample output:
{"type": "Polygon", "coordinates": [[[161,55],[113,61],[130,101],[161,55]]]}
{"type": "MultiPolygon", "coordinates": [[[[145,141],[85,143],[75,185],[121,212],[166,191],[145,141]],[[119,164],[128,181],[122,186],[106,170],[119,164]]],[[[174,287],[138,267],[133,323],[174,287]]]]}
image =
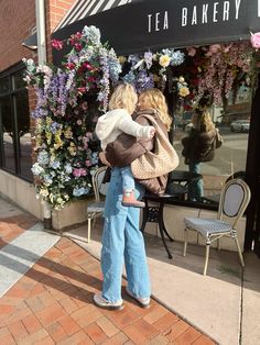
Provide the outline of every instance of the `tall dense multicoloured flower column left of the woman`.
{"type": "MultiPolygon", "coordinates": [[[[32,113],[36,142],[32,171],[37,196],[54,209],[91,191],[99,151],[93,133],[95,119],[107,110],[110,86],[121,73],[113,49],[101,44],[97,27],[85,26],[67,43],[72,51],[61,68],[24,60],[24,79],[37,96],[32,113]]],[[[64,43],[52,44],[62,49],[64,43]]]]}

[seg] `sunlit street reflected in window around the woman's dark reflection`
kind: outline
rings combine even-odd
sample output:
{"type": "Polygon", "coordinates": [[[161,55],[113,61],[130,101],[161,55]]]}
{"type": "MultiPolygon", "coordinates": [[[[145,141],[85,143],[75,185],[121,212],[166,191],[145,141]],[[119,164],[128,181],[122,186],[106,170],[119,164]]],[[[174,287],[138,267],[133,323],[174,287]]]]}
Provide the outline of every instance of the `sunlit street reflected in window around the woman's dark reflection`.
{"type": "MultiPolygon", "coordinates": [[[[215,151],[213,160],[201,164],[205,199],[203,202],[210,202],[207,197],[219,193],[229,176],[237,171],[246,171],[250,110],[251,90],[245,87],[240,88],[235,104],[229,100],[226,111],[223,107],[210,108],[213,122],[223,136],[224,143],[215,151]]],[[[182,140],[192,131],[192,115],[193,112],[180,112],[175,118],[174,147],[181,158],[177,170],[188,170],[182,155],[182,140]]]]}

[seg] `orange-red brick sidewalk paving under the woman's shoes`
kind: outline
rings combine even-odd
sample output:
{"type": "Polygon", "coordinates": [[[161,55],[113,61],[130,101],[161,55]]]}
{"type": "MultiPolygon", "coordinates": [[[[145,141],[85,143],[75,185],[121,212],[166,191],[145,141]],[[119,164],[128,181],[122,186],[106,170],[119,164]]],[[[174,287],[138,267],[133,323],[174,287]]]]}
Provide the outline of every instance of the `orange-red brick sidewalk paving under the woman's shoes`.
{"type": "MultiPolygon", "coordinates": [[[[34,222],[1,220],[2,244],[34,222]]],[[[154,300],[144,310],[123,291],[122,311],[99,309],[91,301],[100,288],[99,261],[61,238],[0,299],[0,344],[214,344],[154,300]]]]}

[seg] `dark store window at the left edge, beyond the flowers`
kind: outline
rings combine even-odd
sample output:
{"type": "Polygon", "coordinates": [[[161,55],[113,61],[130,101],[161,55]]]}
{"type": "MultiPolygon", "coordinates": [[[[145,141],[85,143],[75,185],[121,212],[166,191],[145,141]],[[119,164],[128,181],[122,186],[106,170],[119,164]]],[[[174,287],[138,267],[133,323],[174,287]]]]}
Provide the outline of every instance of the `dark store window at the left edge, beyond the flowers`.
{"type": "Polygon", "coordinates": [[[32,145],[23,66],[0,74],[0,168],[32,180],[32,145]]]}

